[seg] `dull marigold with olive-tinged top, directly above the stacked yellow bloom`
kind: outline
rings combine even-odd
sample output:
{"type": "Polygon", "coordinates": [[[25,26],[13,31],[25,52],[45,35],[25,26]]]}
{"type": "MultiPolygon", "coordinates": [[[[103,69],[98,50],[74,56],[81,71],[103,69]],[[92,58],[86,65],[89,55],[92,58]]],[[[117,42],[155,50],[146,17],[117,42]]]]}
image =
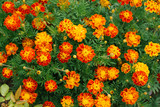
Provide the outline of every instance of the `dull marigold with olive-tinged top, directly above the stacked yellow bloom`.
{"type": "Polygon", "coordinates": [[[44,24],[42,18],[34,18],[32,21],[32,26],[33,28],[41,31],[43,31],[46,28],[46,25],[44,24]]]}

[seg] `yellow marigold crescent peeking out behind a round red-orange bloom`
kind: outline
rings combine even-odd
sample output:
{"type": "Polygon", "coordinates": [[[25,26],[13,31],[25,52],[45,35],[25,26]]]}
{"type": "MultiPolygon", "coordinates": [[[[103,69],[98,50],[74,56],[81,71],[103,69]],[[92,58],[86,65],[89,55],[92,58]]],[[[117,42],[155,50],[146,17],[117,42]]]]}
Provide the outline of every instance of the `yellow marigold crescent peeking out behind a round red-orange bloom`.
{"type": "Polygon", "coordinates": [[[135,72],[144,71],[147,74],[147,76],[149,76],[149,73],[150,73],[149,68],[143,62],[138,62],[138,63],[134,64],[133,68],[135,68],[135,72]]]}

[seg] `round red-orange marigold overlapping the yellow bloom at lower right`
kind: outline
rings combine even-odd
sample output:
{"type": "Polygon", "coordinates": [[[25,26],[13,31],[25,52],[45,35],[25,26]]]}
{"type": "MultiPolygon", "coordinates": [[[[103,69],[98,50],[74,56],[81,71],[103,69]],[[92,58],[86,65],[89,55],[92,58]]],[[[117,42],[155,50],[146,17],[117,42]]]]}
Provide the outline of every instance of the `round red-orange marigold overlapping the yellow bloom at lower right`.
{"type": "Polygon", "coordinates": [[[148,76],[144,71],[136,71],[132,75],[132,81],[138,86],[144,86],[148,81],[148,76]]]}

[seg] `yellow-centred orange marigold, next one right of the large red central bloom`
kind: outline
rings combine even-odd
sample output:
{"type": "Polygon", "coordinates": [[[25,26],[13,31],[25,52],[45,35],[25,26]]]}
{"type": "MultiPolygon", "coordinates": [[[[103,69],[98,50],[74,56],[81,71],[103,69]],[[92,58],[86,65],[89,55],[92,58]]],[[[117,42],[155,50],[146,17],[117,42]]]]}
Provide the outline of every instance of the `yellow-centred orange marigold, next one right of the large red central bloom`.
{"type": "Polygon", "coordinates": [[[117,59],[120,55],[121,55],[121,50],[115,46],[115,45],[110,45],[108,48],[107,48],[107,55],[110,55],[110,57],[112,59],[117,59]]]}

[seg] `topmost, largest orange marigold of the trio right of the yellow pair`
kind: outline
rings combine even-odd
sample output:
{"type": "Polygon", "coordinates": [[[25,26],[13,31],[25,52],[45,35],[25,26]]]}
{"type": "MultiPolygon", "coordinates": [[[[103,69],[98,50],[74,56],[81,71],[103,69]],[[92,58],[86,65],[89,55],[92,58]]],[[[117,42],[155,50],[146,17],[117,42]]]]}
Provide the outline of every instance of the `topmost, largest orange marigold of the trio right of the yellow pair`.
{"type": "Polygon", "coordinates": [[[106,19],[102,17],[102,15],[99,14],[94,14],[90,18],[90,25],[92,26],[93,29],[99,29],[103,25],[106,24],[106,19]]]}

